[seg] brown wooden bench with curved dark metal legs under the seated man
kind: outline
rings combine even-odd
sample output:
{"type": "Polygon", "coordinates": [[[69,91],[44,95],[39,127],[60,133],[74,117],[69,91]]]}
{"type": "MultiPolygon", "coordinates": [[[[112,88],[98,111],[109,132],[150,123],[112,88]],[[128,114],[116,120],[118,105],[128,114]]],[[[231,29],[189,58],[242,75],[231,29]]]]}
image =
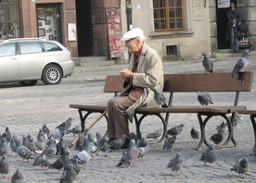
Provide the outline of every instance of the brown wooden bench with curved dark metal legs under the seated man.
{"type": "MultiPolygon", "coordinates": [[[[223,116],[227,122],[229,134],[224,144],[230,140],[236,145],[236,140],[233,137],[232,121],[229,121],[227,114],[234,114],[237,111],[245,111],[246,106],[237,105],[240,92],[250,92],[253,79],[252,72],[241,72],[233,79],[230,73],[211,73],[211,74],[165,74],[164,75],[164,93],[169,94],[168,108],[148,108],[138,107],[135,111],[134,121],[136,125],[136,133],[138,138],[141,138],[140,125],[146,116],[159,116],[163,124],[163,134],[159,140],[164,140],[167,132],[169,117],[172,113],[195,113],[198,115],[198,122],[201,129],[201,138],[198,142],[197,150],[204,142],[207,146],[208,141],[205,138],[205,126],[212,116],[223,116]],[[173,94],[175,92],[235,92],[235,100],[233,105],[173,105],[173,94]],[[204,119],[202,116],[206,116],[204,119]]],[[[122,92],[122,78],[119,76],[108,76],[105,82],[104,92],[113,92],[115,95],[122,92]]],[[[196,96],[196,95],[195,95],[196,96]]],[[[81,126],[84,129],[84,123],[87,116],[92,113],[103,113],[107,109],[107,105],[83,105],[70,104],[71,108],[78,109],[81,126]],[[85,112],[85,115],[83,115],[85,112]]],[[[108,122],[108,116],[104,114],[108,122]]]]}

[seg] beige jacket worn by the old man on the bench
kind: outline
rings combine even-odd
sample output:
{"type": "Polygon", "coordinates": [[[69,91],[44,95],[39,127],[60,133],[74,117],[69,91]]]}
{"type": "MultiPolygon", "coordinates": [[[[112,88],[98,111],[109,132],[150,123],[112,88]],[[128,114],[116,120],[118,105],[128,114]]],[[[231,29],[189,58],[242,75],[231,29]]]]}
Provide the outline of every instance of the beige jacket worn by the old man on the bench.
{"type": "MultiPolygon", "coordinates": [[[[129,69],[134,66],[134,55],[131,55],[129,69]]],[[[128,85],[124,88],[121,95],[127,92],[130,87],[143,87],[144,92],[141,97],[126,110],[126,115],[131,123],[133,123],[134,111],[139,106],[157,107],[158,104],[154,100],[154,92],[151,88],[156,88],[159,92],[163,89],[163,68],[160,55],[150,48],[146,43],[143,44],[141,55],[139,57],[137,72],[134,73],[128,85]]]]}

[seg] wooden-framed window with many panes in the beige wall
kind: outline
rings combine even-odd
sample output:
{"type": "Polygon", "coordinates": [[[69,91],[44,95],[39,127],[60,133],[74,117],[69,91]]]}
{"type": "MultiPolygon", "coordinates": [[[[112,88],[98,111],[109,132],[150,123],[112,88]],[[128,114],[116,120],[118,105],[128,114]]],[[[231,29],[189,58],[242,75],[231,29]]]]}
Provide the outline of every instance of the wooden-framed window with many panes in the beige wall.
{"type": "Polygon", "coordinates": [[[156,31],[185,30],[184,0],[153,0],[156,31]]]}

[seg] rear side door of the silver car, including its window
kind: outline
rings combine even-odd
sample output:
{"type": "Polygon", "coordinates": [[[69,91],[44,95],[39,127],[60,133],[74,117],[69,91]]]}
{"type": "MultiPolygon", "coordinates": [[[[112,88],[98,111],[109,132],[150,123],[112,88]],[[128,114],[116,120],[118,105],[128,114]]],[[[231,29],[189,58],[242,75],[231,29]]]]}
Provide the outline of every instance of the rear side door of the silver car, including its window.
{"type": "Polygon", "coordinates": [[[47,53],[40,43],[19,42],[19,78],[41,79],[47,53]]]}

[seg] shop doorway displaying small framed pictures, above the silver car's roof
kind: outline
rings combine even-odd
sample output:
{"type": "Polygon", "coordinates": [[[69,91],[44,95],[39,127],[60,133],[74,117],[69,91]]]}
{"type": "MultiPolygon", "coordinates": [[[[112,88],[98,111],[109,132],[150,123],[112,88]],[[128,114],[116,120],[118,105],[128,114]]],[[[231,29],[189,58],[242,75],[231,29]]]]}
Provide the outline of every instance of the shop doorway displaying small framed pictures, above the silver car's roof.
{"type": "Polygon", "coordinates": [[[62,43],[60,6],[58,4],[39,4],[36,6],[36,15],[38,37],[62,43]]]}

